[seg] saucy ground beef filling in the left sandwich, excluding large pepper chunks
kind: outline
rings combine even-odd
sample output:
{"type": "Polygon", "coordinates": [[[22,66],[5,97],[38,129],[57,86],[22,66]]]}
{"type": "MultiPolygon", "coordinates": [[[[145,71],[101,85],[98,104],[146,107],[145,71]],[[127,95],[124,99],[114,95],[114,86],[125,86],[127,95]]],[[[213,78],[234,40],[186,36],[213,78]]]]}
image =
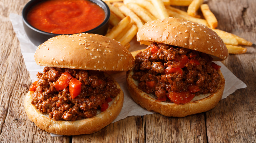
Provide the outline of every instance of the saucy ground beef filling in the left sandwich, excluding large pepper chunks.
{"type": "Polygon", "coordinates": [[[31,103],[54,120],[91,118],[96,115],[105,98],[115,97],[120,93],[114,81],[100,71],[45,67],[43,73],[37,73],[37,78],[37,88],[31,103]],[[81,93],[74,99],[69,94],[69,86],[62,91],[56,91],[54,87],[63,72],[68,72],[82,83],[81,93]]]}

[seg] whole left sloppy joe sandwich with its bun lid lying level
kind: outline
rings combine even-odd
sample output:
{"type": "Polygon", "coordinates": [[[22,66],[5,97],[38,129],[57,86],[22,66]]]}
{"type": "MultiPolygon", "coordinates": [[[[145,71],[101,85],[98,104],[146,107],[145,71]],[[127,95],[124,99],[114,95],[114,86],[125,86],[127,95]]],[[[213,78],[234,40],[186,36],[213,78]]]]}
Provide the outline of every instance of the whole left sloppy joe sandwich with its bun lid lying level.
{"type": "Polygon", "coordinates": [[[128,71],[131,53],[116,40],[97,34],[56,36],[35,52],[45,66],[25,97],[29,119],[40,129],[58,135],[91,134],[120,113],[123,91],[103,71],[128,71]]]}

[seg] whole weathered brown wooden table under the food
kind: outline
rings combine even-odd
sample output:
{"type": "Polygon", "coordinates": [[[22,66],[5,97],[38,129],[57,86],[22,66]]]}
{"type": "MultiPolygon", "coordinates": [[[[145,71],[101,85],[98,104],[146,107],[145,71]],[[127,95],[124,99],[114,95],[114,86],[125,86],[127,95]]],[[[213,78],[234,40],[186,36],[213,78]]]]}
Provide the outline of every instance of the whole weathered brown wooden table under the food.
{"type": "MultiPolygon", "coordinates": [[[[160,114],[132,116],[111,123],[91,135],[52,137],[37,128],[24,111],[24,97],[32,83],[9,20],[21,15],[29,0],[0,2],[0,142],[256,142],[256,49],[229,55],[223,62],[247,87],[212,110],[185,118],[160,114]]],[[[255,0],[208,0],[219,20],[218,29],[256,43],[255,0]]]]}

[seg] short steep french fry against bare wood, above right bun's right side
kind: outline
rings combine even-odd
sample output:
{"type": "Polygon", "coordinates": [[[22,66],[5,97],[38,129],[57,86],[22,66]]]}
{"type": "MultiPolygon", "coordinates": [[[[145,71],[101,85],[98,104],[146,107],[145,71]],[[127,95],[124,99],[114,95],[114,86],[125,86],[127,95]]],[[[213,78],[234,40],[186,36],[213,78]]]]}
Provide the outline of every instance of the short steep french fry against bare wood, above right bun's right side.
{"type": "Polygon", "coordinates": [[[211,12],[209,6],[207,4],[202,4],[200,8],[203,13],[203,17],[206,19],[209,26],[211,28],[216,28],[218,26],[218,21],[215,15],[211,12]]]}

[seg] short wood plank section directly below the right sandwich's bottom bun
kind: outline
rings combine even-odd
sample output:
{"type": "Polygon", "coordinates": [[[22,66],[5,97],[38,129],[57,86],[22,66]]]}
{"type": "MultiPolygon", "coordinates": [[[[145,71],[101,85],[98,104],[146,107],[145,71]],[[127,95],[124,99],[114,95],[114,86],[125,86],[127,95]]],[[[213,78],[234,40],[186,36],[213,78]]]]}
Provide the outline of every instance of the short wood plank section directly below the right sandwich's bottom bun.
{"type": "Polygon", "coordinates": [[[145,115],[146,142],[206,142],[204,114],[184,118],[145,115]]]}

